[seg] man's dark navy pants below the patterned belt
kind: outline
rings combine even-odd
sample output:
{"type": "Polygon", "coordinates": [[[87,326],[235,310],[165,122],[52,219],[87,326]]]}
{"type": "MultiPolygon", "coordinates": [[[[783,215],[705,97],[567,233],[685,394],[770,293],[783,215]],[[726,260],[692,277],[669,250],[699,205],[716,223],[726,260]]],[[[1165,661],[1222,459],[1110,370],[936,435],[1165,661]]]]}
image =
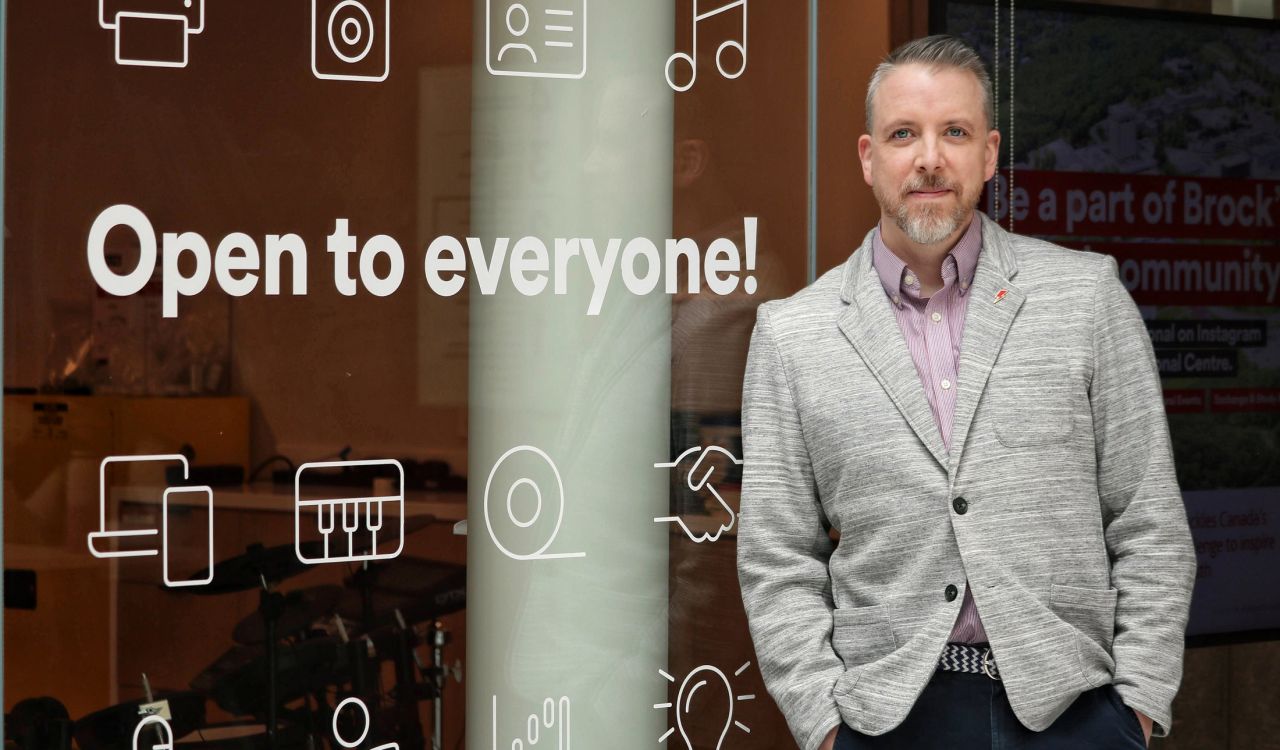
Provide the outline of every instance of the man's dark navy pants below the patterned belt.
{"type": "Polygon", "coordinates": [[[986,674],[938,669],[906,719],[868,736],[840,727],[835,750],[1143,750],[1138,714],[1111,685],[1082,692],[1043,732],[1009,706],[1005,685],[986,674]]]}

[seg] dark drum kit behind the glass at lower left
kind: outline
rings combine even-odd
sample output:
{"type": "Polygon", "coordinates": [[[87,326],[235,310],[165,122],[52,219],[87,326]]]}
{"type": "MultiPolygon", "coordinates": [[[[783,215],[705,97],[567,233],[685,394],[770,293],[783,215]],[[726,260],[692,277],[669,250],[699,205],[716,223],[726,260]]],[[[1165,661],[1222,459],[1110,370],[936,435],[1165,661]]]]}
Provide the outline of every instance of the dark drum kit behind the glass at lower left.
{"type": "MultiPolygon", "coordinates": [[[[433,521],[406,518],[404,532],[433,521]]],[[[216,563],[212,581],[192,593],[259,593],[257,609],[232,631],[234,645],[188,691],[152,695],[143,676],[146,700],[76,721],[81,750],[355,747],[347,737],[379,750],[442,750],[445,682],[462,673],[461,663],[444,664],[449,632],[439,618],[466,608],[466,568],[402,555],[360,563],[342,586],[279,591],[279,584],[311,570],[300,562],[308,552],[315,550],[255,544],[216,563]],[[388,663],[394,677],[384,687],[388,663]],[[209,701],[237,721],[207,722],[209,701]],[[429,738],[419,710],[424,701],[434,703],[429,738]],[[343,710],[348,705],[352,710],[343,710]],[[152,714],[165,719],[156,719],[163,732],[142,726],[152,714]]]]}

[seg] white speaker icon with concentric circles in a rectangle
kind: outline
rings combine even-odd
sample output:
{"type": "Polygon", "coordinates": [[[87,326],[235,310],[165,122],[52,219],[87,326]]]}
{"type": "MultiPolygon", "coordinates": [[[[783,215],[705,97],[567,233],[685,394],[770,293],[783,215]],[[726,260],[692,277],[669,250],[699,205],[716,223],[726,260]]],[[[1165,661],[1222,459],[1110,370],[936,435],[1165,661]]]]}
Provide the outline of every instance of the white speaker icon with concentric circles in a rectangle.
{"type": "Polygon", "coordinates": [[[326,81],[387,81],[392,0],[311,0],[311,72],[326,81]]]}

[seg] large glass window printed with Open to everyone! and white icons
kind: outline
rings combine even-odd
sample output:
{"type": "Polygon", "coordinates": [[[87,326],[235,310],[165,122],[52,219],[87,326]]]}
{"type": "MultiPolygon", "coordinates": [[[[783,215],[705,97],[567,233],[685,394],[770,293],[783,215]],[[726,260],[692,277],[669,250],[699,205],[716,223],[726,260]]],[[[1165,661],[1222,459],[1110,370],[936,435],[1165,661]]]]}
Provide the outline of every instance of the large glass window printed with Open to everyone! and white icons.
{"type": "Polygon", "coordinates": [[[788,741],[733,553],[755,308],[817,234],[805,6],[6,31],[6,710],[84,750],[788,741]]]}

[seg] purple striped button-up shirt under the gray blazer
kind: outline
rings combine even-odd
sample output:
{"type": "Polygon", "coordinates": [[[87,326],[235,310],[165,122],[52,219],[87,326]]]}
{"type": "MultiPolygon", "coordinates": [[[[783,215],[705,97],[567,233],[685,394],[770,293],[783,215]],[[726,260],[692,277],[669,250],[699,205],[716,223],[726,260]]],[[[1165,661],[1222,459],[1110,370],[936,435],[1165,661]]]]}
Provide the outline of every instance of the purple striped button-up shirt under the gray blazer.
{"type": "MultiPolygon", "coordinates": [[[[982,252],[982,223],[974,216],[969,229],[942,260],[942,289],[932,297],[920,296],[920,279],[884,244],[878,228],[872,247],[872,265],[893,306],[893,315],[902,329],[915,371],[920,375],[933,420],[950,451],[960,339],[964,335],[965,310],[969,307],[969,285],[982,252]]],[[[978,607],[968,586],[950,640],[970,644],[987,640],[987,631],[982,627],[978,607]]]]}

